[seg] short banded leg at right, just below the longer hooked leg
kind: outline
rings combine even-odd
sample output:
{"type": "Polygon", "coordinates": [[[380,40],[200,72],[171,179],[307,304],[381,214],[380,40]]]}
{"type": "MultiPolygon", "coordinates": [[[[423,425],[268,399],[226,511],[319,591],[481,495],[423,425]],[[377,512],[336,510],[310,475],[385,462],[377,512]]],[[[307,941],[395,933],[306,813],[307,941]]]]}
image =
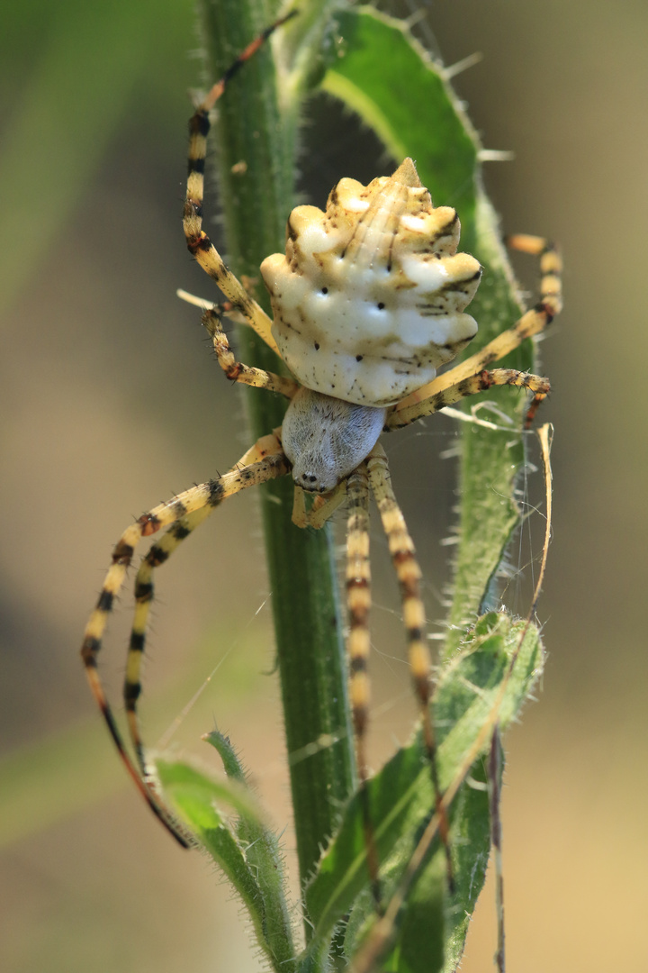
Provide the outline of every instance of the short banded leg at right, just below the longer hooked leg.
{"type": "MultiPolygon", "coordinates": [[[[448,375],[454,375],[457,369],[453,369],[448,375]]],[[[445,378],[445,376],[444,376],[445,378]]],[[[437,391],[434,395],[424,399],[423,402],[415,402],[407,409],[398,410],[396,407],[391,414],[388,414],[385,429],[400,429],[402,426],[416,422],[426,415],[438,413],[446,406],[452,406],[455,402],[465,398],[467,395],[476,395],[484,392],[494,385],[514,385],[517,388],[527,388],[533,393],[533,398],[527,411],[526,425],[529,424],[529,415],[532,416],[537,411],[540,403],[547,398],[550,391],[549,379],[540,378],[537,375],[529,375],[528,372],[517,372],[515,369],[495,368],[492,372],[480,372],[478,375],[462,378],[460,381],[446,385],[444,389],[437,391]]],[[[431,388],[431,385],[428,386],[431,388]]]]}

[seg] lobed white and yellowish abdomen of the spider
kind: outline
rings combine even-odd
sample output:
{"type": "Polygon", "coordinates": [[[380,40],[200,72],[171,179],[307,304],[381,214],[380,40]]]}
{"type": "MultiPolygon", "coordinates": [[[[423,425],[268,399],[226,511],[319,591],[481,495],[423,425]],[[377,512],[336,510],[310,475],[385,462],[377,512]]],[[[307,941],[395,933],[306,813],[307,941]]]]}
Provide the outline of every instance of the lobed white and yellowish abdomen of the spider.
{"type": "Polygon", "coordinates": [[[293,209],[286,254],[261,265],[292,374],[375,407],[431,381],[477,331],[463,310],[481,269],[457,252],[459,234],[457,213],[432,206],[409,159],[368,186],[342,179],[325,212],[293,209]]]}

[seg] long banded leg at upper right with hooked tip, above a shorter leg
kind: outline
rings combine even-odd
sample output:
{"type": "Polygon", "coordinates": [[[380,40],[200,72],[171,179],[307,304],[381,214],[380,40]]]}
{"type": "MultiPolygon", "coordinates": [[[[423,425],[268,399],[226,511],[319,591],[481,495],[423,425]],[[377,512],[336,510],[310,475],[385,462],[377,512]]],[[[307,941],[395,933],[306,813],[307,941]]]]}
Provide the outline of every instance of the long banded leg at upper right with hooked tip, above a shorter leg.
{"type": "MultiPolygon", "coordinates": [[[[539,257],[540,301],[528,310],[526,314],[523,314],[512,328],[503,331],[492,342],[485,344],[480,351],[477,351],[474,355],[470,355],[460,365],[456,365],[449,372],[445,372],[443,375],[438,376],[438,378],[434,378],[433,381],[428,382],[423,388],[417,389],[416,392],[412,392],[411,395],[408,395],[399,402],[394,407],[394,412],[392,413],[394,421],[390,425],[390,428],[396,429],[401,425],[407,424],[395,421],[395,414],[408,411],[416,403],[429,399],[439,392],[443,392],[451,385],[459,384],[464,378],[470,378],[482,372],[489,365],[493,364],[493,362],[499,361],[500,358],[503,358],[510,351],[517,348],[527,338],[532,338],[534,335],[538,335],[544,331],[556,315],[561,312],[563,308],[563,260],[559,249],[553,243],[549,243],[540,236],[519,234],[517,236],[511,236],[507,242],[516,250],[521,250],[524,253],[539,257]]],[[[535,409],[537,409],[537,406],[535,406],[535,409]]],[[[535,409],[533,408],[533,403],[531,403],[529,412],[532,410],[532,414],[534,414],[535,409]]],[[[410,419],[410,421],[414,420],[410,419]]]]}

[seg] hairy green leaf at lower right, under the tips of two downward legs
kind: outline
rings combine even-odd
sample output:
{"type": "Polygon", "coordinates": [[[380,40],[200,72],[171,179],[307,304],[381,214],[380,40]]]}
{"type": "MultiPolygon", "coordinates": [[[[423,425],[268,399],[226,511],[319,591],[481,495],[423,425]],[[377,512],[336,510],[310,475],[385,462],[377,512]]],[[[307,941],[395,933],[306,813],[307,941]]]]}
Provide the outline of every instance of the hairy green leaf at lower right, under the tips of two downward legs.
{"type": "MultiPolygon", "coordinates": [[[[388,963],[387,969],[403,973],[441,969],[446,945],[459,958],[490,845],[488,797],[480,786],[481,757],[488,751],[495,723],[504,730],[515,718],[542,668],[538,633],[530,627],[521,643],[525,629],[525,624],[514,623],[503,613],[485,616],[441,674],[434,700],[438,772],[442,791],[457,791],[450,835],[457,887],[452,901],[444,906],[443,851],[434,838],[400,920],[392,960],[396,962],[396,955],[400,958],[393,966],[388,963]]],[[[399,750],[371,779],[368,791],[376,844],[385,863],[381,869],[384,896],[389,901],[434,804],[420,739],[399,750]]],[[[314,948],[351,912],[347,948],[351,954],[355,952],[364,926],[372,921],[367,880],[362,813],[356,795],[306,890],[309,914],[317,922],[314,948]],[[359,903],[358,896],[362,896],[359,903]],[[359,917],[353,914],[355,908],[359,917]]]]}

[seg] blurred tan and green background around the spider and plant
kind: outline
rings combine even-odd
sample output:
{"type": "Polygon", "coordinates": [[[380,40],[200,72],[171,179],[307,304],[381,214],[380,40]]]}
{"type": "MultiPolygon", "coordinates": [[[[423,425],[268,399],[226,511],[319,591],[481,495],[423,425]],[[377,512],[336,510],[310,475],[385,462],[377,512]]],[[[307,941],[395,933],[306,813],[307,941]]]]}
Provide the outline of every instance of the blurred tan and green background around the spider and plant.
{"type": "MultiPolygon", "coordinates": [[[[566,260],[566,309],[541,348],[554,388],[545,414],[556,424],[554,540],[539,608],[549,659],[540,702],[506,740],[509,968],[639,973],[648,961],[648,8],[403,7],[426,12],[419,36],[447,64],[484,55],[456,87],[486,147],[515,152],[486,170],[503,226],[554,236],[566,260]]],[[[180,224],[187,90],[199,81],[192,4],[23,0],[0,17],[0,966],[253,971],[238,906],[142,806],[78,658],[130,517],[222,471],[246,443],[237,392],[199,315],[174,297],[178,286],[212,293],[180,224]]],[[[366,180],[391,165],[324,101],[305,146],[302,188],[320,205],[341,175],[366,180]]],[[[523,273],[530,288],[532,272],[523,273]]],[[[440,541],[454,483],[452,461],[439,455],[455,435],[440,419],[389,443],[432,619],[443,614],[440,541]]],[[[532,502],[537,477],[529,490],[532,502]]],[[[174,741],[201,753],[199,735],[218,720],[290,849],[260,550],[254,498],[242,496],[164,568],[145,729],[159,739],[203,687],[174,741]]],[[[378,761],[407,736],[414,706],[377,532],[375,551],[378,761]]],[[[521,593],[512,587],[507,600],[524,613],[521,593]]],[[[114,694],[128,603],[102,659],[114,694]]],[[[492,968],[493,909],[487,888],[464,971],[492,968]]]]}

